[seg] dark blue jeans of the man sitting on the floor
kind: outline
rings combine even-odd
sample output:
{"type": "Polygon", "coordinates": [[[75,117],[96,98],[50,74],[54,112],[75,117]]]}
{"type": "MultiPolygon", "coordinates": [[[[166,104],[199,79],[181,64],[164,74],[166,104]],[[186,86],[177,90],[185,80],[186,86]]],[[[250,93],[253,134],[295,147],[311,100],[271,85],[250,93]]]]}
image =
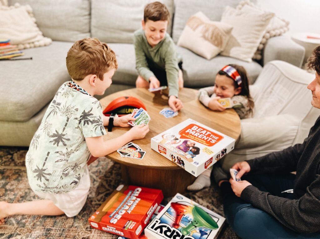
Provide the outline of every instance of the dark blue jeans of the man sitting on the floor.
{"type": "MultiPolygon", "coordinates": [[[[295,199],[293,193],[283,191],[293,189],[294,178],[295,175],[290,173],[242,177],[243,180],[249,181],[261,191],[290,199],[295,199]]],[[[242,239],[320,238],[320,232],[297,233],[285,227],[270,214],[237,197],[229,182],[221,183],[221,192],[225,217],[231,228],[242,239]]]]}

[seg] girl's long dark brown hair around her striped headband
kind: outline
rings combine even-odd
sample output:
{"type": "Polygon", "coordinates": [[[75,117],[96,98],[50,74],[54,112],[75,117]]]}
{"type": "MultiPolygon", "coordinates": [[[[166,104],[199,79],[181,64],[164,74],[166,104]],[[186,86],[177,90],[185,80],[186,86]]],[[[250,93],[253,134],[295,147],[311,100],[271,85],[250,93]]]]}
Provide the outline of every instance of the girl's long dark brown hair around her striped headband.
{"type": "MultiPolygon", "coordinates": [[[[250,114],[252,115],[253,114],[253,108],[254,108],[254,102],[252,100],[252,97],[250,95],[250,92],[249,92],[249,80],[248,80],[248,77],[247,77],[247,71],[244,69],[243,66],[240,66],[240,65],[236,65],[236,64],[229,64],[229,66],[232,66],[233,68],[235,68],[240,77],[241,77],[241,92],[239,93],[239,95],[245,95],[248,97],[248,101],[249,101],[249,111],[250,111],[250,114]]],[[[226,72],[224,71],[219,71],[218,72],[219,75],[223,75],[223,76],[227,76],[228,78],[232,79],[231,76],[229,76],[226,72]]],[[[238,84],[237,82],[233,80],[233,84],[235,86],[235,89],[238,88],[238,84]]]]}

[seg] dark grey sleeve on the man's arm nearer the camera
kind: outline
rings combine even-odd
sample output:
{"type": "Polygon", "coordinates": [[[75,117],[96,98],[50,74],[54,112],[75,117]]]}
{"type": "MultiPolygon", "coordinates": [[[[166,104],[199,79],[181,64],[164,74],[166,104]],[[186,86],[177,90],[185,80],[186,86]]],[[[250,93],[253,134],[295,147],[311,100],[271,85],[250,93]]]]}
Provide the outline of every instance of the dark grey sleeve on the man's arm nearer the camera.
{"type": "Polygon", "coordinates": [[[276,218],[284,226],[299,232],[312,233],[320,230],[320,175],[307,187],[299,199],[287,199],[262,192],[250,185],[241,198],[276,218]]]}

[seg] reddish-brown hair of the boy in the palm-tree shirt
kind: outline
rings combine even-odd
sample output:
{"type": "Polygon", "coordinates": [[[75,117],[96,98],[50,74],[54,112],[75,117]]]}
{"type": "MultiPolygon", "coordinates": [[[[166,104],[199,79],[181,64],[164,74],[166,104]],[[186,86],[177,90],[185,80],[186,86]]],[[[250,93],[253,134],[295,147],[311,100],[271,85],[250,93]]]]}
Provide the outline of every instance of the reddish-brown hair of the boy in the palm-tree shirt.
{"type": "Polygon", "coordinates": [[[90,74],[95,74],[103,80],[106,72],[118,68],[114,51],[97,38],[76,41],[69,49],[66,61],[69,75],[74,80],[83,80],[90,74]]]}

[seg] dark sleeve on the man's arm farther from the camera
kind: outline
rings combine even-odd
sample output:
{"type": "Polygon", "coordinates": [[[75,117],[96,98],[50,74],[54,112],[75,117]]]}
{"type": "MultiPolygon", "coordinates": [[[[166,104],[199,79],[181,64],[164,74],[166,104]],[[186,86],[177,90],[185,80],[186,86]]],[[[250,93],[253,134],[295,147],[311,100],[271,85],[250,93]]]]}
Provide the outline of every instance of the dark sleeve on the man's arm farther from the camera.
{"type": "Polygon", "coordinates": [[[293,172],[297,169],[297,163],[305,148],[306,140],[302,144],[296,144],[284,150],[269,153],[267,155],[248,160],[250,172],[252,173],[273,173],[293,172]]]}

